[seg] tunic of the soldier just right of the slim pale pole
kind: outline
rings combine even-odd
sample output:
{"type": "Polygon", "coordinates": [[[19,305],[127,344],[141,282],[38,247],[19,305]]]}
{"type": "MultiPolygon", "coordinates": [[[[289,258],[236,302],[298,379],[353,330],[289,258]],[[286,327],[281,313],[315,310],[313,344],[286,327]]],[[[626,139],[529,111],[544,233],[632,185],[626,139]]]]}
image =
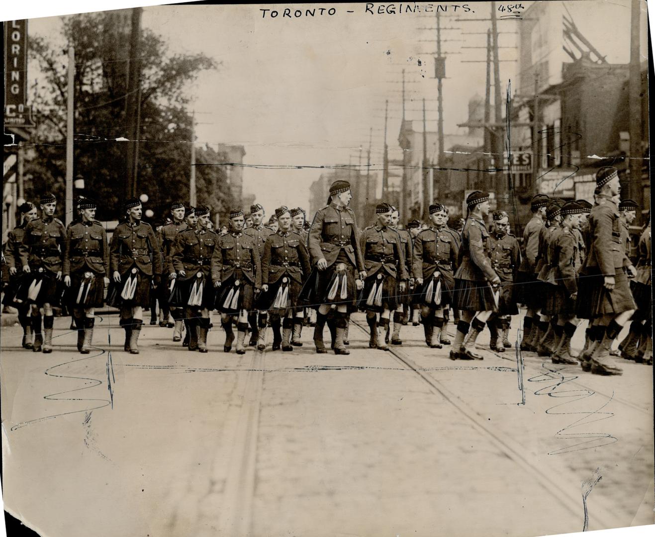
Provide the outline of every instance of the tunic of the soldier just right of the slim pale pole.
{"type": "Polygon", "coordinates": [[[90,270],[109,276],[109,245],[102,225],[95,222],[77,222],[66,232],[64,276],[90,270]]]}

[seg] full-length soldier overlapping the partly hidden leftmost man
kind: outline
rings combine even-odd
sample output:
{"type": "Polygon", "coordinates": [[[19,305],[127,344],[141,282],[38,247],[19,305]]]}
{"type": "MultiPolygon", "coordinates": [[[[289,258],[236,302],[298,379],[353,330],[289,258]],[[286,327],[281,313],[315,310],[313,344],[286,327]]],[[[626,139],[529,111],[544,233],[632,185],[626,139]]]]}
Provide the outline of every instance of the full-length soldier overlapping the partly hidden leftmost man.
{"type": "Polygon", "coordinates": [[[43,352],[52,352],[52,306],[59,305],[61,297],[66,230],[62,221],[54,217],[56,206],[57,200],[52,194],[41,196],[41,218],[26,225],[24,240],[18,246],[26,285],[16,297],[24,303],[31,303],[34,352],[41,352],[42,347],[43,352]]]}

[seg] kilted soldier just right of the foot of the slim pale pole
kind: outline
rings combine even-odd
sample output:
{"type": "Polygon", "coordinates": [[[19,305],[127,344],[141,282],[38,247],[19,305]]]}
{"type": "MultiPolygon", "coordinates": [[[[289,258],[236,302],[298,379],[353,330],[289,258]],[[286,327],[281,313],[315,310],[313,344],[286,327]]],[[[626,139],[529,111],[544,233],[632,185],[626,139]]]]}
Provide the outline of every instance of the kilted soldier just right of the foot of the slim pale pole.
{"type": "Polygon", "coordinates": [[[64,250],[62,272],[77,327],[77,350],[82,354],[90,352],[94,308],[103,306],[105,286],[109,286],[109,245],[105,230],[95,221],[96,208],[96,202],[88,198],[79,204],[81,221],[68,228],[64,250]]]}

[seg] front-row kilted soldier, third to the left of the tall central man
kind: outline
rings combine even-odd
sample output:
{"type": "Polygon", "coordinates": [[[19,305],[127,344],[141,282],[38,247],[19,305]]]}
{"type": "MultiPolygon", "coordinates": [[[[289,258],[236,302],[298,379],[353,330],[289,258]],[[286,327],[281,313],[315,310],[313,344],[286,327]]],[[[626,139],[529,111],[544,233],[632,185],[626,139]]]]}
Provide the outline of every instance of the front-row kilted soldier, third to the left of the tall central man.
{"type": "Polygon", "coordinates": [[[208,207],[196,207],[195,215],[196,227],[179,231],[170,250],[170,263],[176,271],[171,306],[186,308],[189,350],[208,352],[207,333],[214,309],[211,261],[219,238],[209,229],[208,207]]]}

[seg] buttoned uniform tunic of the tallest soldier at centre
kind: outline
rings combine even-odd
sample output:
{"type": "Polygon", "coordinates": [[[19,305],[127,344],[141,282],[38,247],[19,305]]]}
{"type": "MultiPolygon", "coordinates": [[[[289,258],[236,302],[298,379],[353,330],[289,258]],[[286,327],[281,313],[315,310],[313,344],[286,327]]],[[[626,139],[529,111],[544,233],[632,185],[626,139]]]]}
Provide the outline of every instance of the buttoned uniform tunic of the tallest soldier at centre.
{"type": "Polygon", "coordinates": [[[328,267],[333,265],[343,250],[358,272],[365,270],[355,213],[348,207],[329,204],[316,211],[309,229],[308,248],[312,266],[321,258],[325,258],[328,267]]]}

